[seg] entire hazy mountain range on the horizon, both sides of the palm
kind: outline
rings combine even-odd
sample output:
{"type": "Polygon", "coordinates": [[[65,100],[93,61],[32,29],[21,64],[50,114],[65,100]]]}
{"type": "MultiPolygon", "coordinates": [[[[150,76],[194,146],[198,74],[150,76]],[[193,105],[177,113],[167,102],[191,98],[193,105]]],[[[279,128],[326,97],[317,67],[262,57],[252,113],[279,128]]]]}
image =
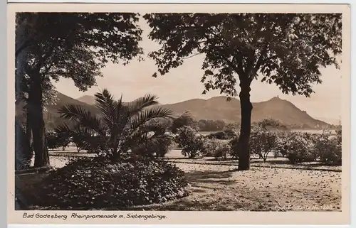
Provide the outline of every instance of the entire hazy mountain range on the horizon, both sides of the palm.
{"type": "MultiPolygon", "coordinates": [[[[95,97],[85,95],[73,99],[58,92],[56,105],[46,107],[45,119],[48,125],[54,126],[61,121],[57,112],[58,108],[65,104],[77,104],[96,112],[94,107],[95,97]]],[[[223,120],[226,123],[239,123],[241,121],[241,109],[239,99],[232,98],[229,102],[226,97],[212,97],[210,99],[189,99],[174,104],[159,104],[160,107],[171,109],[174,114],[179,115],[190,112],[194,119],[223,120]]],[[[282,124],[295,129],[324,129],[330,124],[319,119],[314,119],[307,112],[298,109],[295,105],[279,97],[273,97],[266,102],[254,102],[251,122],[263,119],[276,119],[282,124]]]]}

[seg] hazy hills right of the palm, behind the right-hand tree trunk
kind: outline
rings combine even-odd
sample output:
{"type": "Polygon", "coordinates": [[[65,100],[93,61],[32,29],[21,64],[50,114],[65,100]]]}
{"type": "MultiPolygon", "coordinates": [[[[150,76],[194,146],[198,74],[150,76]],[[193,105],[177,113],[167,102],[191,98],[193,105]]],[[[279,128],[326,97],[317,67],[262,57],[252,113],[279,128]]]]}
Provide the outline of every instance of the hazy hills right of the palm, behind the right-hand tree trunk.
{"type": "MultiPolygon", "coordinates": [[[[240,122],[241,109],[239,99],[226,101],[226,97],[212,97],[210,99],[191,99],[176,104],[164,104],[162,107],[172,109],[176,114],[186,111],[192,113],[195,119],[223,120],[226,123],[240,122]]],[[[278,97],[266,102],[253,103],[251,121],[263,119],[276,119],[282,124],[292,128],[315,129],[325,128],[329,124],[313,119],[305,111],[298,109],[294,104],[278,97]]]]}

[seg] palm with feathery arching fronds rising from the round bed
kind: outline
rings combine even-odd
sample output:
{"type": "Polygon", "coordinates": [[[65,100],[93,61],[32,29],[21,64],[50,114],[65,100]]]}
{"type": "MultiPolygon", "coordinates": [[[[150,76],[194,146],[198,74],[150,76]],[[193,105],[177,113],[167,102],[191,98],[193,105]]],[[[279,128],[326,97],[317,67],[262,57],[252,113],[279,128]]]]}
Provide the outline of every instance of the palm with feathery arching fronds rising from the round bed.
{"type": "MultiPolygon", "coordinates": [[[[103,92],[95,94],[98,115],[73,104],[61,107],[59,113],[64,119],[75,121],[79,126],[93,131],[96,136],[88,140],[88,146],[116,161],[142,141],[148,121],[172,118],[171,110],[151,107],[154,104],[158,102],[152,94],[124,103],[122,96],[115,100],[108,89],[103,89],[103,92]]],[[[69,130],[68,126],[66,128],[69,130]]]]}

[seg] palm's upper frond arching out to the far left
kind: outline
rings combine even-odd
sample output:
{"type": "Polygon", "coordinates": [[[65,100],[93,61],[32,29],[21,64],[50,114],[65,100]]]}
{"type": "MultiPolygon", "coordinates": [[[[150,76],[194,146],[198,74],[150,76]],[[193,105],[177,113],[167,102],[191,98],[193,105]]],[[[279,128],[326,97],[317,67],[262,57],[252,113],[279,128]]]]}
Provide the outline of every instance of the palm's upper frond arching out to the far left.
{"type": "Polygon", "coordinates": [[[64,119],[77,121],[81,126],[93,129],[100,135],[106,135],[106,129],[103,127],[102,121],[80,105],[67,104],[58,109],[58,112],[64,119]]]}

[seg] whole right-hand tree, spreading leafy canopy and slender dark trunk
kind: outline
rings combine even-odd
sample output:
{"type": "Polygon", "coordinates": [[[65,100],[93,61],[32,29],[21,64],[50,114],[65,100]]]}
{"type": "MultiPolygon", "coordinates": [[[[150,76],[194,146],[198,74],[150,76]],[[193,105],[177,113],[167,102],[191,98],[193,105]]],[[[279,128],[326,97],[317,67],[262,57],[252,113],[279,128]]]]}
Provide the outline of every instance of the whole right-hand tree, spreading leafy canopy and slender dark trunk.
{"type": "MultiPolygon", "coordinates": [[[[309,97],[320,83],[320,67],[338,67],[341,13],[148,13],[150,38],[161,47],[150,53],[165,75],[192,55],[203,55],[203,94],[211,89],[241,105],[239,170],[250,167],[251,82],[277,85],[285,94],[309,97]],[[240,91],[236,91],[239,85],[240,91]]],[[[157,77],[157,72],[154,73],[157,77]]]]}

